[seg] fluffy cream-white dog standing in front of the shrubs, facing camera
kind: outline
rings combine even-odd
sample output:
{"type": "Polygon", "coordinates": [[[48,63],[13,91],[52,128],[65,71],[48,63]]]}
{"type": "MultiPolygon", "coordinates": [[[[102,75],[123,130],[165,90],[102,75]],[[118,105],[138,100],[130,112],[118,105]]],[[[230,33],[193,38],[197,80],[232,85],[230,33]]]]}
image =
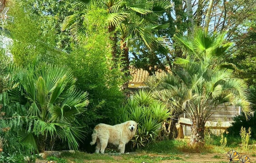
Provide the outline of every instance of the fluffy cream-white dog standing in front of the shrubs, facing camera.
{"type": "Polygon", "coordinates": [[[95,126],[91,135],[91,145],[97,142],[96,153],[104,153],[108,143],[118,146],[121,153],[124,153],[125,144],[127,144],[135,135],[137,123],[127,121],[114,126],[100,123],[95,126]]]}

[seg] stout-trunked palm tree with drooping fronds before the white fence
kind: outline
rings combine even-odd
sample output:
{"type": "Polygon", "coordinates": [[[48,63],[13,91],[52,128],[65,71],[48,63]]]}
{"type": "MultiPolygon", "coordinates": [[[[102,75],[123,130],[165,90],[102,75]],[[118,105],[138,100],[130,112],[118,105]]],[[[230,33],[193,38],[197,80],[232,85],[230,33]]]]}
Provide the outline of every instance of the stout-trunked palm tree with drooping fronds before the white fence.
{"type": "Polygon", "coordinates": [[[231,43],[224,43],[225,34],[209,34],[197,29],[193,39],[175,36],[180,40],[187,57],[177,58],[172,74],[161,78],[161,89],[190,115],[192,132],[190,144],[204,141],[204,126],[211,108],[220,104],[241,106],[249,118],[246,83],[233,71],[216,66],[216,56],[223,55],[231,43]],[[175,101],[176,100],[176,101],[175,101]]]}

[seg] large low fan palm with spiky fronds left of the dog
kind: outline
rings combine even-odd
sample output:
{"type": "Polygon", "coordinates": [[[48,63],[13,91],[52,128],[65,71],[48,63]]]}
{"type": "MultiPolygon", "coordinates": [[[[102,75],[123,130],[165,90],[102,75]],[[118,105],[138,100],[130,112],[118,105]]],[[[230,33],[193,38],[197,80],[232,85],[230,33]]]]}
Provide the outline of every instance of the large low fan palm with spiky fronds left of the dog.
{"type": "Polygon", "coordinates": [[[24,73],[21,90],[10,93],[12,101],[27,108],[27,124],[18,133],[20,143],[45,150],[53,148],[46,143],[60,139],[70,149],[78,149],[83,131],[76,116],[89,102],[86,92],[75,89],[75,81],[71,70],[64,66],[42,65],[24,73]]]}

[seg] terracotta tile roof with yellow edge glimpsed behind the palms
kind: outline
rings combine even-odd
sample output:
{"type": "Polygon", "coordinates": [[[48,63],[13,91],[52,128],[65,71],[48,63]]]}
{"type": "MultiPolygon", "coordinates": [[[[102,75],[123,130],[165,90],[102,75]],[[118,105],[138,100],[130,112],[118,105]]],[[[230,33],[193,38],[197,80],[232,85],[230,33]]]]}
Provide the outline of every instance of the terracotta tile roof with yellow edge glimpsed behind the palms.
{"type": "MultiPolygon", "coordinates": [[[[166,71],[170,72],[170,67],[166,67],[166,71]]],[[[158,78],[163,74],[166,74],[166,71],[163,71],[161,69],[158,69],[155,72],[155,76],[158,78]]],[[[133,66],[130,67],[130,74],[132,76],[132,79],[129,81],[128,87],[147,87],[144,82],[147,80],[147,78],[150,76],[149,72],[147,70],[143,70],[141,68],[135,68],[133,66]]]]}

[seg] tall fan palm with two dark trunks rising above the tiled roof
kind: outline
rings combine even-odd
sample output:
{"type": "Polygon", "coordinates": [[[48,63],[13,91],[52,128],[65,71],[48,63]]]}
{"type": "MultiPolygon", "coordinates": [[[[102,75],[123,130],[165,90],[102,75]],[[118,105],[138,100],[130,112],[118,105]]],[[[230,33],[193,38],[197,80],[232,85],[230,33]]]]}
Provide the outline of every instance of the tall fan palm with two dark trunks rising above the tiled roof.
{"type": "MultiPolygon", "coordinates": [[[[157,20],[172,5],[168,0],[80,0],[75,3],[90,10],[92,6],[104,8],[107,12],[106,24],[110,39],[113,40],[112,57],[116,59],[117,44],[120,40],[122,51],[122,61],[125,66],[123,71],[129,69],[129,48],[133,43],[142,40],[144,47],[150,51],[155,51],[159,47],[167,47],[164,37],[155,37],[155,32],[161,28],[167,28],[168,24],[159,25],[157,20]],[[118,33],[120,36],[118,38],[118,33]]],[[[86,10],[84,10],[86,12],[86,10]]],[[[85,12],[68,16],[63,24],[62,30],[85,17],[85,12]]],[[[126,73],[126,75],[128,75],[126,73]]]]}

